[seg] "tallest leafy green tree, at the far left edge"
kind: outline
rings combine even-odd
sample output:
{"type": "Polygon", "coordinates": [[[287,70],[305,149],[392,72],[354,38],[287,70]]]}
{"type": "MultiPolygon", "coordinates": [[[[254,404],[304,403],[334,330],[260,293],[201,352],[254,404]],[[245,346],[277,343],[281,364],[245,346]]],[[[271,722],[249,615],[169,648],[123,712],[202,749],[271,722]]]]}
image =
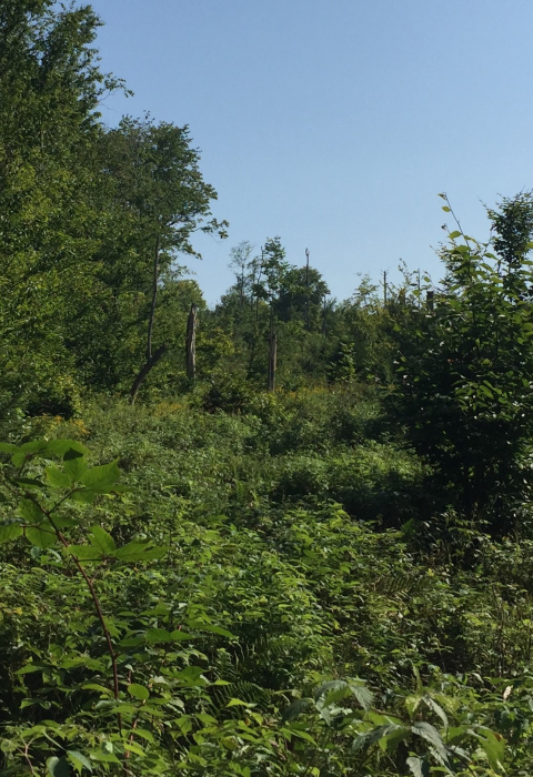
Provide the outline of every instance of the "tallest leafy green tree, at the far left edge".
{"type": "Polygon", "coordinates": [[[92,296],[103,226],[90,157],[121,84],[98,67],[99,24],[89,6],[0,6],[0,370],[6,401],[49,412],[76,389],[66,322],[92,296]]]}

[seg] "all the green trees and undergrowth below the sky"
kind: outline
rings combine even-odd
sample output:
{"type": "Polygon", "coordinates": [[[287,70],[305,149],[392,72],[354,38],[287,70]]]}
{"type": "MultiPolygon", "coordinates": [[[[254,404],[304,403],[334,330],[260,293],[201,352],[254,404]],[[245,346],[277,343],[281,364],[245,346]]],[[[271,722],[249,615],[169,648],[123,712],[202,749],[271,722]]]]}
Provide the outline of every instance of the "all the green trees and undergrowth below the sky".
{"type": "Polygon", "coordinates": [[[439,284],[274,236],[210,310],[217,193],[103,124],[98,26],[0,4],[0,774],[531,775],[532,195],[441,195],[439,284]]]}

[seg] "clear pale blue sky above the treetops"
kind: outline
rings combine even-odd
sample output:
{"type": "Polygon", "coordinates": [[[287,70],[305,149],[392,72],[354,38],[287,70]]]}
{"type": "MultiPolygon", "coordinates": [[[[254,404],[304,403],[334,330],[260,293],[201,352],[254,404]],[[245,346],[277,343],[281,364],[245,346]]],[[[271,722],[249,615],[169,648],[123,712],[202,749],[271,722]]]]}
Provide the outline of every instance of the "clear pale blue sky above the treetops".
{"type": "Polygon", "coordinates": [[[232,245],[309,248],[339,299],[400,258],[438,278],[438,193],[469,234],[533,188],[532,0],[93,0],[122,113],[189,124],[230,238],[200,235],[208,302],[232,245]]]}

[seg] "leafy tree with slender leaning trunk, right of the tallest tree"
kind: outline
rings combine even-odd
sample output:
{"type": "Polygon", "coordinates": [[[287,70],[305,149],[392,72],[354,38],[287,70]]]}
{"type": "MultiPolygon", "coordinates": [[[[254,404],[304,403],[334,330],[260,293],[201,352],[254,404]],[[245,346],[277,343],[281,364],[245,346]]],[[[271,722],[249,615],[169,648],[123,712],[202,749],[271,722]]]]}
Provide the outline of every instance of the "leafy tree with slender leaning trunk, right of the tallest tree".
{"type": "Polygon", "coordinates": [[[134,396],[175,336],[161,326],[168,317],[161,305],[171,301],[161,292],[179,273],[177,259],[199,255],[192,245],[199,230],[224,238],[227,222],[211,218],[217,192],[202,178],[187,127],[127,117],[103,133],[98,158],[107,213],[95,256],[101,293],[86,305],[87,327],[71,347],[91,385],[128,390],[137,372],[134,396]]]}

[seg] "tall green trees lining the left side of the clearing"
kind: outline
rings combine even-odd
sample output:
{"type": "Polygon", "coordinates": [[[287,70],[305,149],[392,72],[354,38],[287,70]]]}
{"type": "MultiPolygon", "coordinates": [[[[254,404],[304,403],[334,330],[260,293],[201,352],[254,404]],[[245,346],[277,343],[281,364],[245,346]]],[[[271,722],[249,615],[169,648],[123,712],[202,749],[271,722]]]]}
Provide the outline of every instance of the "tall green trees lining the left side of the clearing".
{"type": "MultiPolygon", "coordinates": [[[[3,407],[72,412],[80,391],[127,391],[154,345],[173,353],[191,302],[178,255],[197,230],[225,234],[187,127],[124,118],[100,101],[89,6],[0,6],[0,312],[3,407]]],[[[168,367],[169,369],[169,367],[168,367]]]]}

